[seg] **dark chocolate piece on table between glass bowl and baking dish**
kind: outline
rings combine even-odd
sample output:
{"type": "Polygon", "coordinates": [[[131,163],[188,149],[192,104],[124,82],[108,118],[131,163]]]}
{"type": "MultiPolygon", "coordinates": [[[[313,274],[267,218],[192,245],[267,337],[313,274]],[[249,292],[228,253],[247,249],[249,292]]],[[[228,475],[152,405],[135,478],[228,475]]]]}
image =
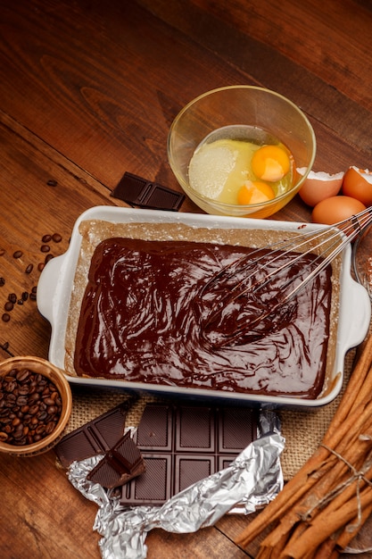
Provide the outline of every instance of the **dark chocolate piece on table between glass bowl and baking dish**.
{"type": "Polygon", "coordinates": [[[184,194],[130,172],[124,173],[113,189],[112,196],[130,205],[173,212],[177,212],[185,200],[184,194]]]}

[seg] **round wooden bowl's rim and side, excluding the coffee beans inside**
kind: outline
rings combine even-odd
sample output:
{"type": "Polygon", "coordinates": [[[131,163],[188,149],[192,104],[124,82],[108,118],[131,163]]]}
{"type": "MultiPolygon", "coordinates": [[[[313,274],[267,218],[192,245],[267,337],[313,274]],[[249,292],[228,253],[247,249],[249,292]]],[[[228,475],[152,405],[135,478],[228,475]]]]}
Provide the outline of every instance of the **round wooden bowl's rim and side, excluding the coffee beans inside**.
{"type": "MultiPolygon", "coordinates": [[[[60,417],[54,427],[54,429],[44,438],[40,438],[37,442],[24,443],[20,445],[8,444],[3,440],[0,440],[0,452],[6,453],[8,455],[14,456],[36,456],[45,453],[50,448],[52,448],[56,443],[62,438],[63,431],[70,419],[70,413],[72,408],[72,394],[70,389],[70,384],[66,380],[63,371],[55,367],[52,363],[49,363],[45,359],[33,356],[24,357],[12,357],[11,359],[6,359],[0,363],[0,377],[9,376],[10,371],[17,370],[22,371],[27,369],[37,374],[43,375],[46,379],[51,380],[54,383],[55,388],[61,396],[62,409],[60,417]]],[[[2,410],[6,407],[2,402],[4,401],[4,396],[0,399],[0,435],[2,429],[4,428],[4,423],[2,424],[2,410]]],[[[17,412],[16,412],[17,413],[17,412]]],[[[18,421],[18,420],[16,420],[18,421]]],[[[4,438],[4,436],[2,437],[4,438]]]]}

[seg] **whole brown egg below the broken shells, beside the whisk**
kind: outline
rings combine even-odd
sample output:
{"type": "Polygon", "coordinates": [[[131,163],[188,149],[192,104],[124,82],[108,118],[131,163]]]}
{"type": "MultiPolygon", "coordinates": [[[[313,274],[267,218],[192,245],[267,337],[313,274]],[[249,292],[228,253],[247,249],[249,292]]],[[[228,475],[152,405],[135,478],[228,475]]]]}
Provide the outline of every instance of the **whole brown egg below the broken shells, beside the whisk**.
{"type": "Polygon", "coordinates": [[[333,225],[362,212],[366,206],[351,196],[331,196],[319,202],[311,213],[314,223],[333,225]]]}

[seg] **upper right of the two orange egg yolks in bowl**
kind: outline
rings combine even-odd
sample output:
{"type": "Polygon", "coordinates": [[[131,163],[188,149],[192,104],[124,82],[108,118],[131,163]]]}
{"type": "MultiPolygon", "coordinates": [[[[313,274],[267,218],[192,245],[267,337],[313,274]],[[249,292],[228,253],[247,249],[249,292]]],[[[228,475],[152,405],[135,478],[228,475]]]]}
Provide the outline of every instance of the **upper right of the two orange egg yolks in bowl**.
{"type": "Polygon", "coordinates": [[[276,182],[289,171],[291,162],[279,146],[262,146],[252,157],[252,171],[258,179],[276,182]]]}

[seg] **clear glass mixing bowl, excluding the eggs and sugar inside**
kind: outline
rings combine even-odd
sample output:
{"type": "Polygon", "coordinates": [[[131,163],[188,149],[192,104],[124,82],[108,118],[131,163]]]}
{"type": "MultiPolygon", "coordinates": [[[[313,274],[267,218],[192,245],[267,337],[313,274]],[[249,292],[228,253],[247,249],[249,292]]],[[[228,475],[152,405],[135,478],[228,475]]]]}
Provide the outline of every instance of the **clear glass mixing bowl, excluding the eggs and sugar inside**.
{"type": "Polygon", "coordinates": [[[302,110],[284,96],[255,86],[229,86],[208,91],[178,113],[169,129],[168,158],[180,186],[204,212],[236,217],[265,218],[283,208],[300,190],[316,154],[314,130],[302,110]],[[263,129],[293,154],[293,185],[260,204],[226,204],[203,196],[190,186],[189,164],[196,147],[211,132],[230,126],[263,129]]]}

